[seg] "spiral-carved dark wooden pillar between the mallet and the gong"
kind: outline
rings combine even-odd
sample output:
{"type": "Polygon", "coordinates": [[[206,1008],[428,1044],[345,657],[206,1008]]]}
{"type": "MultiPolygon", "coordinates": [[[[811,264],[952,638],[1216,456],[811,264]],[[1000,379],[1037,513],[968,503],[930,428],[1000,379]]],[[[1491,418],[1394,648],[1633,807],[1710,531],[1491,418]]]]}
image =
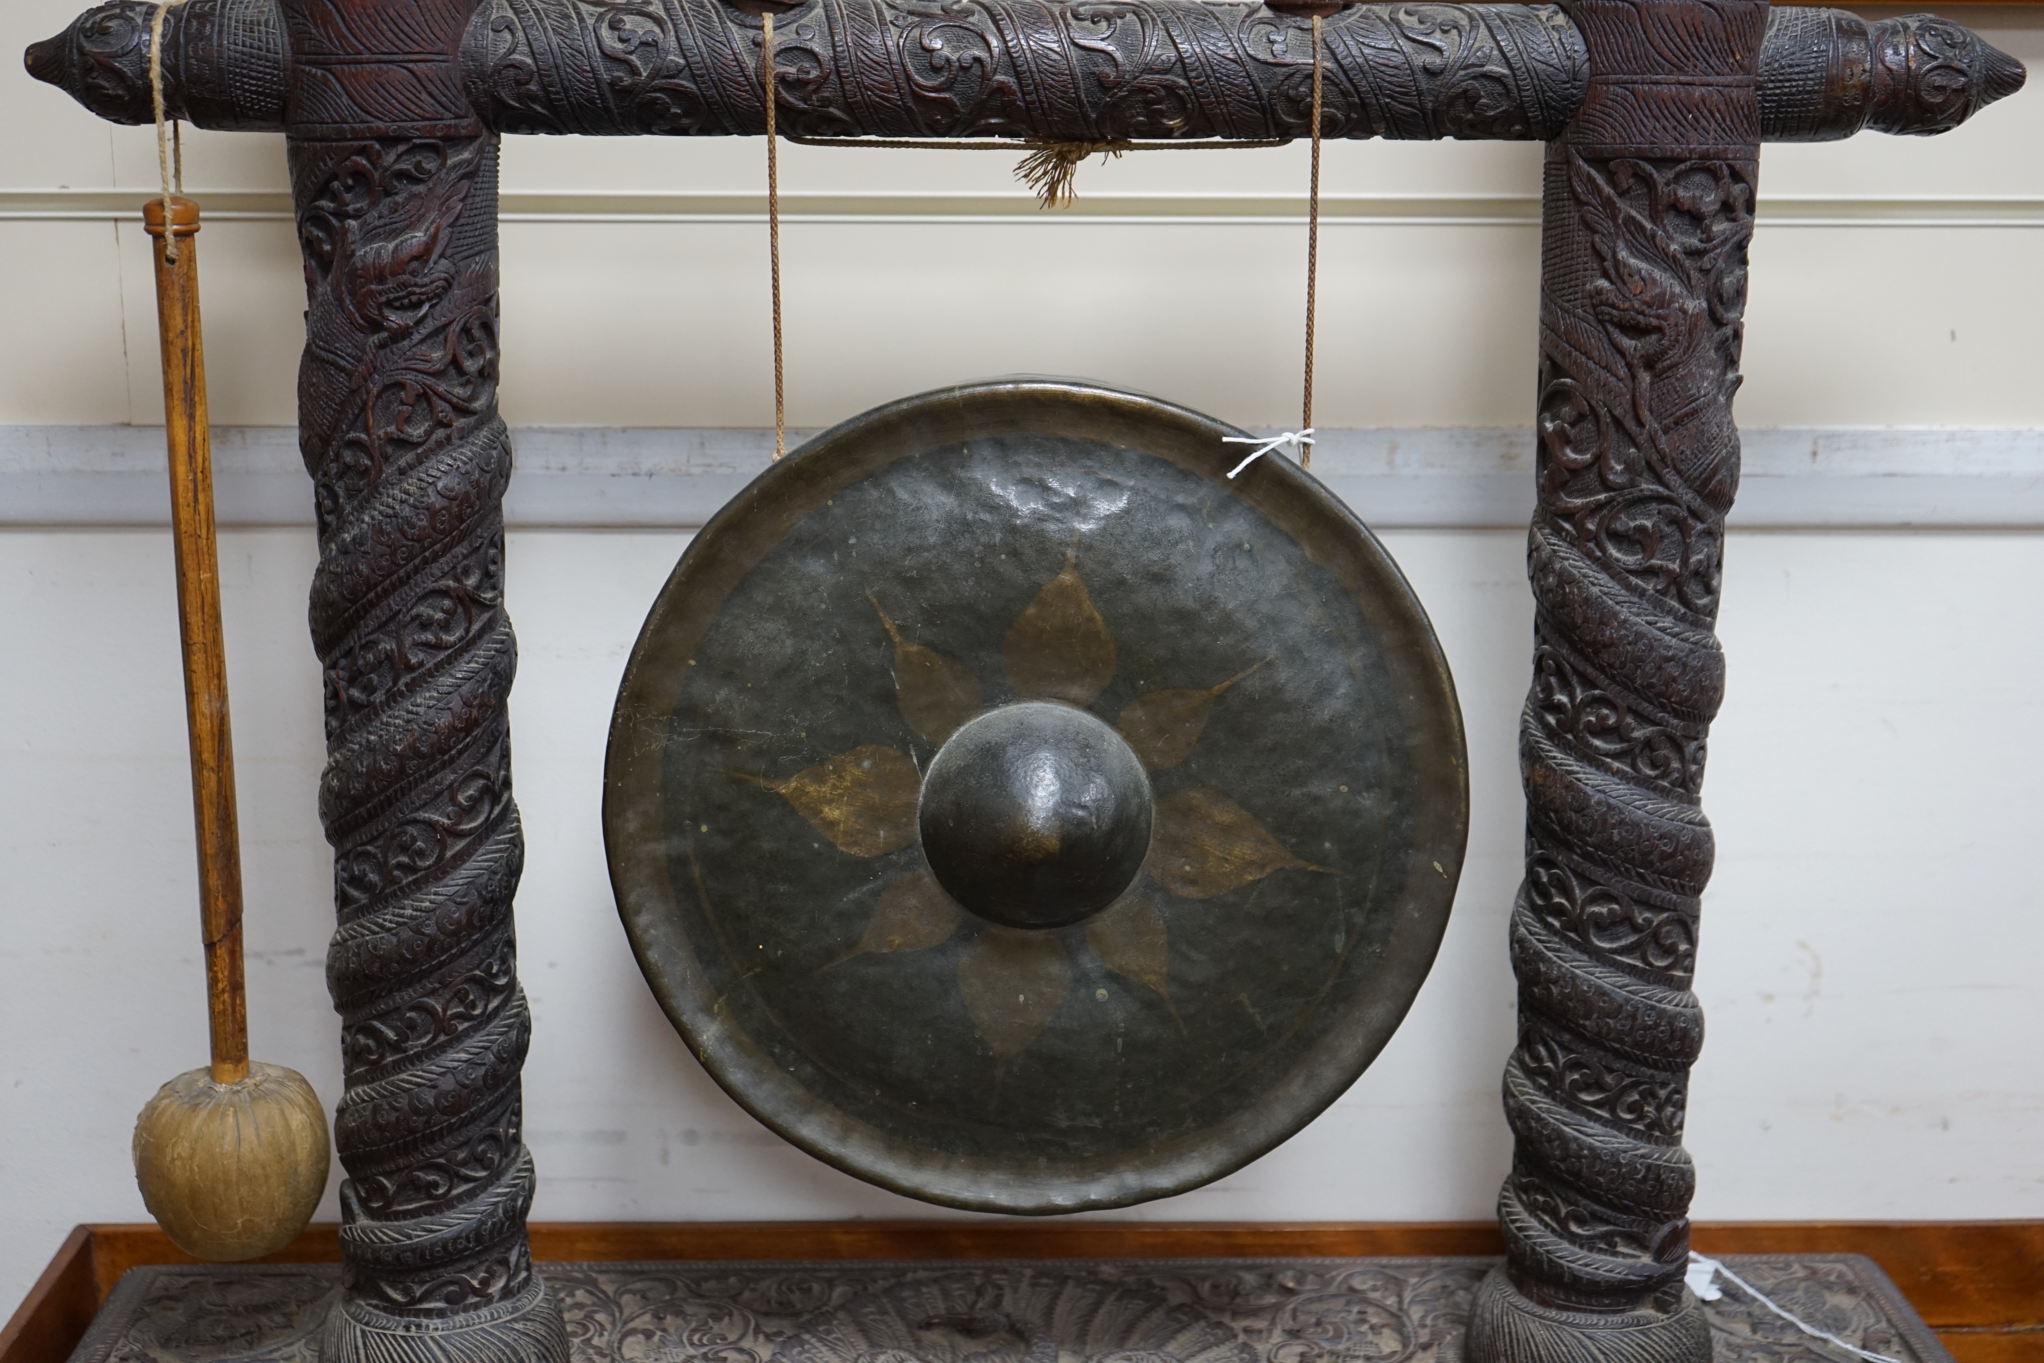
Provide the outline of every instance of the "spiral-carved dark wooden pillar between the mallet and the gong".
{"type": "Polygon", "coordinates": [[[505,701],[511,443],[497,415],[497,135],[456,51],[474,0],[286,0],[305,251],[298,431],[319,499],[339,932],[327,983],[347,1296],[327,1363],[566,1359],[531,1271],[531,1020],[505,701]]]}

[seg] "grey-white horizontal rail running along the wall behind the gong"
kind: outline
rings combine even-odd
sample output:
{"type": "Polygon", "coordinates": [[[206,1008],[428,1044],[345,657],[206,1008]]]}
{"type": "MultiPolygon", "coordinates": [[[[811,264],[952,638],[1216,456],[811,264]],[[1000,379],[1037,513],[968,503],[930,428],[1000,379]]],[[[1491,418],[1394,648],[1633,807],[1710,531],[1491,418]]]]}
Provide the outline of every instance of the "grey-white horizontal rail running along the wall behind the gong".
{"type": "MultiPolygon", "coordinates": [[[[513,437],[505,517],[519,527],[695,527],[773,452],[773,431],[750,429],[513,437]]],[[[311,523],[294,429],[215,427],[213,458],[223,525],[311,523]]],[[[1735,527],[2044,527],[2044,429],[1758,427],[1744,470],[1735,527]]],[[[1533,433],[1322,431],[1314,472],[1372,525],[1525,525],[1533,433]]],[[[0,525],[168,523],[161,427],[0,425],[0,525]]]]}

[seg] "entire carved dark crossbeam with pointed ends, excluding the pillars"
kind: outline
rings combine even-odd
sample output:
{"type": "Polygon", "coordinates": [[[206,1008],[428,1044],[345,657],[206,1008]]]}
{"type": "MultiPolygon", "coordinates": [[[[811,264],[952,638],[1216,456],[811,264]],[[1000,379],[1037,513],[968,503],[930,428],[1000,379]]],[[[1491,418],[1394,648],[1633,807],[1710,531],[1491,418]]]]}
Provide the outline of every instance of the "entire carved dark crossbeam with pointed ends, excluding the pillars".
{"type": "MultiPolygon", "coordinates": [[[[149,123],[153,10],[90,10],[31,69],[104,119],[149,123]]],[[[758,18],[722,0],[489,0],[413,80],[499,133],[760,135],[758,45],[758,18]]],[[[814,0],[775,49],[781,129],[805,137],[1304,137],[1312,98],[1304,20],[1255,4],[814,0]]],[[[1549,141],[1590,78],[1551,4],[1359,4],[1327,20],[1327,137],[1549,141]]],[[[278,0],[188,0],[166,18],[172,116],[282,131],[290,65],[278,0]]],[[[1952,22],[1774,10],[1760,137],[1942,133],[2019,84],[1952,22]]]]}

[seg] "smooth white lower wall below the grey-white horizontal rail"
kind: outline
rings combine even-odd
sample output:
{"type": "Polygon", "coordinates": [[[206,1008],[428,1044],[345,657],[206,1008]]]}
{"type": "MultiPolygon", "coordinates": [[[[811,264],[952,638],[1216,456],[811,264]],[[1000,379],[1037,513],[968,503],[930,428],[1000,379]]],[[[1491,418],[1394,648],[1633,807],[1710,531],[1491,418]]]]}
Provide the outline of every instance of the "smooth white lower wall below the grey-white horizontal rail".
{"type": "MultiPolygon", "coordinates": [[[[1480,1218],[1508,1140],[1504,913],[1531,601],[1521,537],[1398,531],[1470,727],[1474,828],[1439,965],[1312,1128],[1149,1218],[1480,1218]]],[[[542,1218],[924,1216],[783,1146],[687,1056],[611,907],[597,799],[625,650],[685,535],[517,533],[519,942],[542,1218]]],[[[339,1097],[321,981],[303,531],[223,544],[256,1052],[339,1097]]],[[[78,1220],[141,1218],[133,1112],[204,1061],[170,546],[0,535],[0,1298],[78,1220]]],[[[1746,533],[1713,734],[1719,871],[1690,1150],[1703,1218],[2044,1216],[2034,772],[2044,537],[1746,533]]],[[[333,1214],[329,1202],[327,1214],[333,1214]]]]}

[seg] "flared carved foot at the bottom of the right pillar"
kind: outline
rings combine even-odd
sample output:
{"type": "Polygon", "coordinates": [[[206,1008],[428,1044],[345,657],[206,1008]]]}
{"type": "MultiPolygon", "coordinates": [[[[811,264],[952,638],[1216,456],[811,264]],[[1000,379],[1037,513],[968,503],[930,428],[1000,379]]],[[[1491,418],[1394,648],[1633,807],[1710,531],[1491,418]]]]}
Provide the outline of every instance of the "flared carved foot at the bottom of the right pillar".
{"type": "Polygon", "coordinates": [[[1500,1363],[1711,1363],[1711,1320],[1686,1287],[1674,1310],[1553,1310],[1529,1300],[1498,1267],[1476,1289],[1468,1355],[1500,1363]]]}

